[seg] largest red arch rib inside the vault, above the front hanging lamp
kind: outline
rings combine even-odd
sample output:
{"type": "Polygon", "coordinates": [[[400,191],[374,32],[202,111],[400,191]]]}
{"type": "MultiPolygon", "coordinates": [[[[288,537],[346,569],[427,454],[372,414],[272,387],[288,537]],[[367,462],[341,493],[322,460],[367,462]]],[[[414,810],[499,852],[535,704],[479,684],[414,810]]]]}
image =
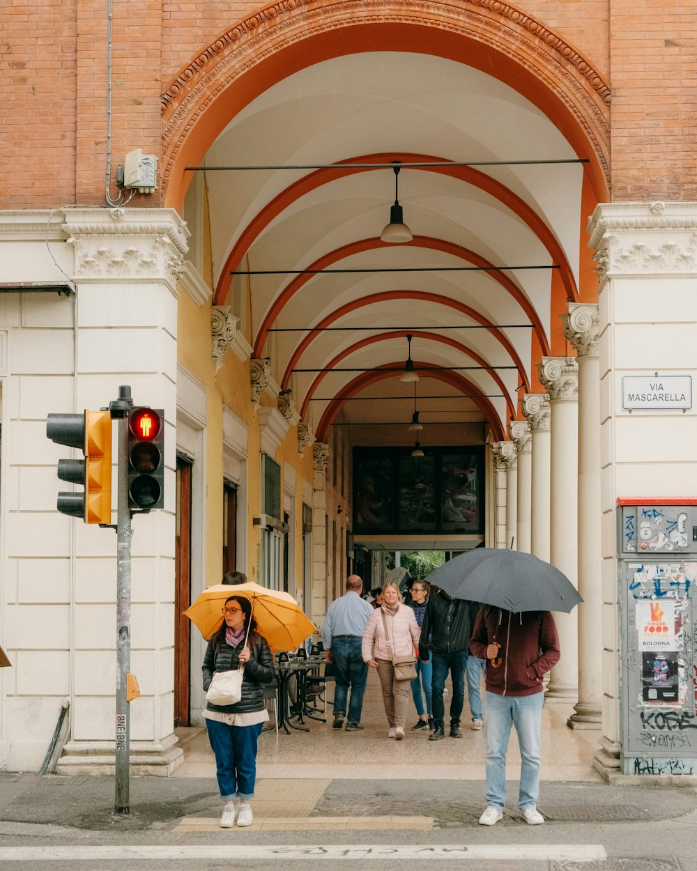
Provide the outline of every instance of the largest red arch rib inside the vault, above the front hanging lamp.
{"type": "MultiPolygon", "coordinates": [[[[412,154],[402,152],[399,154],[367,154],[360,158],[350,158],[342,160],[346,163],[390,163],[391,161],[399,160],[402,163],[413,163],[418,161],[434,162],[443,160],[443,158],[434,157],[427,154],[412,154]]],[[[484,172],[479,172],[471,166],[438,166],[438,167],[419,167],[420,172],[439,172],[441,175],[450,176],[453,179],[459,179],[480,190],[489,193],[494,199],[497,199],[504,206],[515,213],[530,229],[532,233],[538,237],[540,242],[545,246],[552,258],[552,262],[557,263],[560,267],[560,273],[564,282],[566,299],[570,302],[579,301],[579,291],[576,287],[576,282],[573,278],[572,269],[566,260],[564,251],[559,245],[558,240],[545,224],[538,214],[531,209],[530,206],[518,197],[517,194],[510,191],[506,186],[502,185],[496,179],[492,179],[484,172]]],[[[248,251],[254,240],[262,233],[269,223],[281,214],[288,206],[292,205],[297,199],[300,199],[305,194],[314,191],[316,188],[326,185],[336,179],[341,179],[348,175],[353,175],[355,172],[378,172],[377,170],[369,170],[349,167],[337,169],[321,169],[309,173],[303,179],[298,179],[293,185],[288,186],[285,191],[281,191],[278,196],[274,197],[261,209],[254,219],[245,227],[240,234],[240,239],[233,246],[233,250],[228,254],[225,265],[222,268],[218,285],[215,289],[213,303],[214,305],[225,305],[227,294],[229,293],[232,275],[230,273],[239,267],[240,261],[244,254],[248,251]]],[[[384,244],[384,243],[382,243],[384,244]]],[[[445,243],[448,244],[448,243],[445,243]]]]}

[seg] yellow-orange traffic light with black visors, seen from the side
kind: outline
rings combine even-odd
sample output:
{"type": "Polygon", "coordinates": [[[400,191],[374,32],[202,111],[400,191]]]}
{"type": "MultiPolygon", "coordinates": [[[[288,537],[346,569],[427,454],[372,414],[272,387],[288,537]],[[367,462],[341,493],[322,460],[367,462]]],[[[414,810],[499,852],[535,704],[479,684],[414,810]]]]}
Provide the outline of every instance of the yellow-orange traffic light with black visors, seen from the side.
{"type": "Polygon", "coordinates": [[[48,415],[46,436],[85,455],[82,460],[58,460],[60,480],[85,487],[83,492],[58,493],[58,510],[82,517],[85,523],[111,523],[112,415],[108,411],[48,415]]]}

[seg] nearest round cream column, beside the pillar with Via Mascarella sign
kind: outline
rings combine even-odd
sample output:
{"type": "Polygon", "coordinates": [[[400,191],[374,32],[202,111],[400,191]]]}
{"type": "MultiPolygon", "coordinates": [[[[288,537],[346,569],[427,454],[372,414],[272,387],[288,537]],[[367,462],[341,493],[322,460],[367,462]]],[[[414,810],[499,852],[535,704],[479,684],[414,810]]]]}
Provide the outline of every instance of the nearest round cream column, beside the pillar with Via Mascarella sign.
{"type": "Polygon", "coordinates": [[[570,303],[564,334],[579,364],[579,701],[568,725],[602,722],[602,548],[600,530],[600,362],[598,306],[570,303]]]}

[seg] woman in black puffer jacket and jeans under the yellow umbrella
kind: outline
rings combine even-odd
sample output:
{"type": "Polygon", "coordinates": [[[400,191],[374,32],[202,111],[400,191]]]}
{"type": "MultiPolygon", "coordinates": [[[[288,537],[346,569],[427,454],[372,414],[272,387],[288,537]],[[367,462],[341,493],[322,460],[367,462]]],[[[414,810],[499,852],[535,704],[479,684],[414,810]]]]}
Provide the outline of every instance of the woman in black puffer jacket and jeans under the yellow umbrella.
{"type": "Polygon", "coordinates": [[[206,648],[203,658],[203,690],[213,672],[229,672],[244,665],[242,696],[234,705],[208,702],[206,719],[208,740],[215,753],[223,815],[220,827],[250,826],[254,820],[250,801],[254,798],[257,741],[268,712],[262,684],[275,678],[274,657],[266,638],[256,631],[252,605],[243,596],[226,599],[223,622],[206,648]]]}

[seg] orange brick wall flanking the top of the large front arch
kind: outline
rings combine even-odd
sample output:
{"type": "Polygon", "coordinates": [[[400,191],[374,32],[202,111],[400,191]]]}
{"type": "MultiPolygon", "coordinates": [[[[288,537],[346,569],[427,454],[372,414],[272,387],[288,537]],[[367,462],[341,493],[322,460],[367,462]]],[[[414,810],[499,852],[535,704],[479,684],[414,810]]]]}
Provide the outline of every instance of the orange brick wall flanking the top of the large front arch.
{"type": "MultiPolygon", "coordinates": [[[[112,172],[133,148],[159,154],[163,84],[261,5],[114,3],[112,172]]],[[[613,199],[697,199],[694,0],[519,5],[610,71],[613,199]]],[[[0,208],[105,202],[106,27],[105,0],[0,4],[0,208]]]]}

